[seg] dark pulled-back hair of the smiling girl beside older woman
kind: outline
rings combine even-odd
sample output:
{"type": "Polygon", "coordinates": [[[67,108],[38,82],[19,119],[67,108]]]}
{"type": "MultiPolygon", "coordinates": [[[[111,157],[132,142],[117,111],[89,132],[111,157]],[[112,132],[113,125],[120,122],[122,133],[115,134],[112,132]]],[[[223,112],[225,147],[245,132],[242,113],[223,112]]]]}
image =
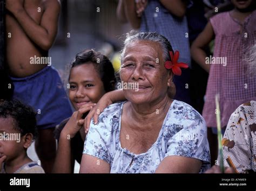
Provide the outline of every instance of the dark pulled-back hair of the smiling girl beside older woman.
{"type": "Polygon", "coordinates": [[[107,56],[100,52],[96,52],[93,49],[86,49],[76,55],[75,60],[71,62],[71,69],[88,63],[92,63],[93,66],[95,66],[95,69],[103,82],[104,90],[106,92],[114,90],[116,77],[114,75],[112,63],[107,56]]]}

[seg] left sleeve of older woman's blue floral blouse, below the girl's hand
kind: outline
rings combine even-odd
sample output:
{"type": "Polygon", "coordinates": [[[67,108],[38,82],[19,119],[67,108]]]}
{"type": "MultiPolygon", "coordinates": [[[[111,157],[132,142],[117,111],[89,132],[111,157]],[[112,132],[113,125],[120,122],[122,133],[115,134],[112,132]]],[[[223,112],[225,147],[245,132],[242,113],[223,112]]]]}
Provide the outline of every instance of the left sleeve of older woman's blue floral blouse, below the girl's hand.
{"type": "Polygon", "coordinates": [[[89,154],[93,157],[105,160],[110,164],[110,153],[107,149],[106,133],[104,132],[105,123],[103,122],[104,116],[99,115],[98,124],[93,124],[91,121],[89,132],[84,142],[83,154],[89,154]]]}

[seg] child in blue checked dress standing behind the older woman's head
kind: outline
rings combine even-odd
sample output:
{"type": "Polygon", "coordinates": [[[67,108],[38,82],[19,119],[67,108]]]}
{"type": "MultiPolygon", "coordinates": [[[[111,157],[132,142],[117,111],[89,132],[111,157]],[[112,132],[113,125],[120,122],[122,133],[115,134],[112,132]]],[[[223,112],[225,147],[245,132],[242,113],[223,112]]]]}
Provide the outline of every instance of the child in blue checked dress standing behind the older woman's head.
{"type": "MultiPolygon", "coordinates": [[[[157,32],[172,43],[173,50],[180,51],[180,61],[190,66],[190,45],[188,41],[188,27],[185,16],[187,0],[120,0],[117,17],[121,22],[128,21],[134,29],[141,32],[157,32]]],[[[175,75],[173,82],[176,86],[174,99],[191,103],[190,69],[183,71],[181,76],[175,75]]]]}

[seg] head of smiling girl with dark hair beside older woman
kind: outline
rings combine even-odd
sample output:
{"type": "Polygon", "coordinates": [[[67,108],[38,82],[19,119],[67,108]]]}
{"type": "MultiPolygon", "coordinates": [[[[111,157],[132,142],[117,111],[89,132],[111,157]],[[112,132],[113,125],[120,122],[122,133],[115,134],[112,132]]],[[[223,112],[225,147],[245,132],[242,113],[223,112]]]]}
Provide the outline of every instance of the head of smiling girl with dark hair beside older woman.
{"type": "Polygon", "coordinates": [[[76,110],[87,102],[97,103],[106,92],[114,90],[115,83],[110,60],[92,49],[85,50],[71,63],[70,101],[76,110]]]}

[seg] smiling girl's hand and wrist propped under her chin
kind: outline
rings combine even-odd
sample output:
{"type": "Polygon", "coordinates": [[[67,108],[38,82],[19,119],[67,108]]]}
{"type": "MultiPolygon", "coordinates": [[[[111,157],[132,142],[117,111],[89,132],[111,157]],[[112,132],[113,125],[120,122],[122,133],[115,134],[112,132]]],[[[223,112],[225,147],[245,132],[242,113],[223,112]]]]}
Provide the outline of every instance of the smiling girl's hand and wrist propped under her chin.
{"type": "Polygon", "coordinates": [[[85,119],[83,119],[83,114],[90,111],[96,104],[89,102],[84,105],[78,110],[73,112],[72,116],[70,117],[68,123],[64,126],[62,130],[62,134],[65,136],[70,136],[70,138],[75,137],[76,133],[83,127],[85,119]]]}

